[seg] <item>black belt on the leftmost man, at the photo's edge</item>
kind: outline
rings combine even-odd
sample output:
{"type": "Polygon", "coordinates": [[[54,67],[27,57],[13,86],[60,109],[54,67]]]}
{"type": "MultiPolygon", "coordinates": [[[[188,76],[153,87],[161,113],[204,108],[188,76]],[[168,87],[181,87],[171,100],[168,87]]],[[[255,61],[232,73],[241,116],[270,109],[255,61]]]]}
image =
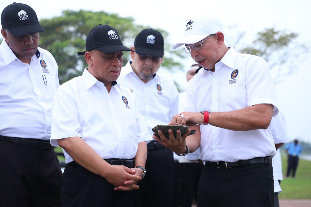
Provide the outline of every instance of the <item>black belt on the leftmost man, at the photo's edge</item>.
{"type": "Polygon", "coordinates": [[[0,135],[0,139],[7,141],[7,142],[13,142],[15,144],[19,145],[27,145],[27,146],[32,146],[36,147],[38,149],[50,149],[53,148],[52,145],[50,145],[49,140],[42,140],[42,139],[22,139],[18,137],[6,137],[0,135]]]}

